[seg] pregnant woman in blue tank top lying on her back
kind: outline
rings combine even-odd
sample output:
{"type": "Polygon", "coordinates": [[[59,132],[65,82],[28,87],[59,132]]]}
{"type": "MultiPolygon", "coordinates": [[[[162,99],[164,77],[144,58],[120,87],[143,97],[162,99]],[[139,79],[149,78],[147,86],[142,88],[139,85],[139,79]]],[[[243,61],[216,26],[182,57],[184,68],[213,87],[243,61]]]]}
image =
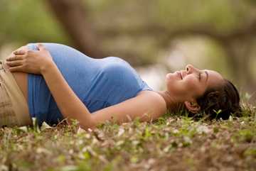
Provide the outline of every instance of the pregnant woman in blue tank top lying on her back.
{"type": "Polygon", "coordinates": [[[93,59],[55,43],[23,46],[1,66],[0,126],[30,125],[36,117],[39,125],[66,118],[95,128],[107,120],[152,121],[179,105],[209,118],[240,112],[240,97],[231,82],[192,65],[168,73],[165,91],[151,89],[119,57],[93,59]]]}

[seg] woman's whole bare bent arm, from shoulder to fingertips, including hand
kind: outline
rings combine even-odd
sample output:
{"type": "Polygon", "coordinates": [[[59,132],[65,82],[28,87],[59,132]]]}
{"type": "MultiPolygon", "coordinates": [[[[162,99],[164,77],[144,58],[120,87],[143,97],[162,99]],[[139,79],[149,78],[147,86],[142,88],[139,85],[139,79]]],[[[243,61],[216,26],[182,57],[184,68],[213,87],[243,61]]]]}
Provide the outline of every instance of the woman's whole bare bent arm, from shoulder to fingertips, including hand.
{"type": "Polygon", "coordinates": [[[43,46],[39,46],[38,52],[28,50],[25,56],[16,55],[16,60],[9,60],[10,62],[7,65],[11,66],[11,72],[22,71],[43,75],[61,114],[65,118],[77,119],[82,128],[94,128],[98,123],[111,121],[112,118],[118,123],[136,117],[142,118],[142,121],[150,121],[159,117],[165,111],[164,99],[161,99],[159,94],[151,92],[90,114],[85,104],[80,101],[65,81],[50,53],[43,46]],[[18,58],[19,60],[17,60],[18,58]]]}

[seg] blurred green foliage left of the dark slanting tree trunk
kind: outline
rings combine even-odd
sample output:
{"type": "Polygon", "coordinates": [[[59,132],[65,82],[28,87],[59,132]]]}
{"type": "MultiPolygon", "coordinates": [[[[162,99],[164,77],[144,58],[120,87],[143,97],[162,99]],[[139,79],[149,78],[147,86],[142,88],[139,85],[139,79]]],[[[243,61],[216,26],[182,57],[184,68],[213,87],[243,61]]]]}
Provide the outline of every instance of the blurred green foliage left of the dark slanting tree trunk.
{"type": "Polygon", "coordinates": [[[45,41],[68,43],[63,28],[41,0],[1,0],[0,21],[0,45],[45,41]]]}

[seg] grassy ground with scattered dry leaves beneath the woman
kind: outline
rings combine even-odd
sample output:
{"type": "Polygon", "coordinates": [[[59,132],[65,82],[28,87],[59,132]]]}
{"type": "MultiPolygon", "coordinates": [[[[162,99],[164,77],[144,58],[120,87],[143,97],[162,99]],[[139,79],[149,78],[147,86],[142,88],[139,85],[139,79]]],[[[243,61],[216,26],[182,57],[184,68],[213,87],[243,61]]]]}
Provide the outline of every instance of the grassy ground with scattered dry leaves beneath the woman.
{"type": "Polygon", "coordinates": [[[255,170],[256,109],[228,121],[166,114],[154,123],[1,128],[0,170],[255,170]]]}

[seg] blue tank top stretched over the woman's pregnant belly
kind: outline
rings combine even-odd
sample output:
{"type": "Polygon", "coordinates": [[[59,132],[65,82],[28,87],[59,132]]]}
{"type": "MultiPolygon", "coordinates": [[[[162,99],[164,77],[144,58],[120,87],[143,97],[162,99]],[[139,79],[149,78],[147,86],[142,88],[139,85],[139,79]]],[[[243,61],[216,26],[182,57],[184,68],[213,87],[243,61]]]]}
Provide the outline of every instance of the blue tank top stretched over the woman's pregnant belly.
{"type": "MultiPolygon", "coordinates": [[[[66,45],[43,43],[65,80],[90,112],[118,104],[143,90],[153,90],[119,57],[93,59],[66,45]]],[[[38,50],[35,43],[27,45],[38,50]]],[[[65,94],[63,94],[65,98],[65,94]]],[[[63,120],[41,75],[28,74],[28,109],[38,124],[63,120]]]]}

